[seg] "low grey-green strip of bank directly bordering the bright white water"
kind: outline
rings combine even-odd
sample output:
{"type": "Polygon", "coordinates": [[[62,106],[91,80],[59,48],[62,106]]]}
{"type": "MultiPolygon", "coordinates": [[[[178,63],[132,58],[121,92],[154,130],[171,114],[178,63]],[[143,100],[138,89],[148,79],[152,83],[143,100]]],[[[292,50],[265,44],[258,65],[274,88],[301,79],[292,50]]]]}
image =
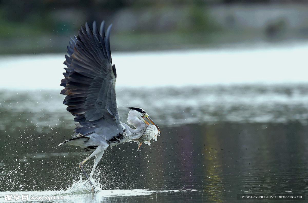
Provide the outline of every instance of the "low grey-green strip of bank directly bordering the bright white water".
{"type": "MultiPolygon", "coordinates": [[[[190,50],[190,49],[220,49],[220,48],[241,48],[241,47],[259,47],[259,46],[280,46],[292,45],[308,42],[308,34],[301,38],[285,38],[279,41],[267,41],[263,38],[255,36],[251,39],[253,33],[232,33],[226,35],[220,34],[195,34],[195,38],[188,36],[173,35],[166,37],[164,34],[155,36],[142,34],[140,36],[111,36],[111,52],[126,52],[126,51],[168,51],[168,50],[190,50]],[[198,42],[197,36],[201,36],[198,42]],[[241,38],[239,36],[242,36],[241,38]],[[307,36],[307,38],[306,38],[307,36]],[[166,37],[163,42],[161,38],[166,37]],[[121,38],[130,38],[129,42],[120,40],[121,38]],[[149,41],[148,38],[151,38],[149,41]],[[227,39],[228,38],[228,39],[227,39]],[[118,40],[119,39],[119,40],[118,40]],[[156,41],[157,39],[157,41],[156,41]],[[170,41],[168,41],[170,39],[170,41]],[[175,42],[176,41],[176,42],[175,42]]],[[[73,36],[73,35],[72,35],[73,36]]],[[[53,38],[53,37],[50,37],[53,38]]],[[[66,46],[70,41],[69,37],[56,37],[53,40],[48,40],[47,36],[39,38],[18,38],[18,39],[0,39],[0,55],[12,54],[52,54],[66,53],[66,46]],[[53,41],[53,42],[52,42],[53,41]],[[48,44],[49,43],[49,44],[48,44]]]]}

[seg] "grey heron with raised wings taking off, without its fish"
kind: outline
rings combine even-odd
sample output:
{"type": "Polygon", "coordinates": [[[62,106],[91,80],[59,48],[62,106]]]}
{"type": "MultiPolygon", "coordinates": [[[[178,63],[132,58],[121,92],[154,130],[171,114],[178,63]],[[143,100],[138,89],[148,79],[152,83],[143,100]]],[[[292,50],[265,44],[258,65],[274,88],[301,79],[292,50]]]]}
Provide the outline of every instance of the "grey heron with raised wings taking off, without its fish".
{"type": "Polygon", "coordinates": [[[127,117],[128,124],[135,129],[120,121],[115,96],[116,70],[111,61],[109,42],[112,25],[106,34],[104,25],[103,21],[98,30],[93,22],[91,30],[86,23],[85,28],[81,26],[77,37],[71,38],[64,61],[67,68],[64,68],[64,79],[61,80],[64,87],[61,94],[66,95],[63,103],[78,123],[73,137],[59,145],[76,145],[93,152],[79,163],[93,190],[95,188],[83,169],[87,160],[95,157],[92,174],[105,149],[140,138],[149,125],[148,121],[160,133],[148,113],[139,107],[129,107],[127,117]]]}

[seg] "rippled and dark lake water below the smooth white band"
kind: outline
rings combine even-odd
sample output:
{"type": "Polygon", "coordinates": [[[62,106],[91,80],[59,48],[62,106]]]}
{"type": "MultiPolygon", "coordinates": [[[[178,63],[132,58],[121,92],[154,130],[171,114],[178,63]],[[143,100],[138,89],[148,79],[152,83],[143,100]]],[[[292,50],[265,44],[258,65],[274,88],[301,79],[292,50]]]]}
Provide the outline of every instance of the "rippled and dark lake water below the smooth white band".
{"type": "Polygon", "coordinates": [[[162,136],[139,151],[133,143],[107,149],[94,196],[79,182],[88,153],[58,146],[74,127],[63,96],[0,92],[1,197],[13,190],[83,202],[235,202],[239,193],[308,194],[308,84],[147,91],[117,91],[121,118],[126,106],[143,107],[162,136]]]}

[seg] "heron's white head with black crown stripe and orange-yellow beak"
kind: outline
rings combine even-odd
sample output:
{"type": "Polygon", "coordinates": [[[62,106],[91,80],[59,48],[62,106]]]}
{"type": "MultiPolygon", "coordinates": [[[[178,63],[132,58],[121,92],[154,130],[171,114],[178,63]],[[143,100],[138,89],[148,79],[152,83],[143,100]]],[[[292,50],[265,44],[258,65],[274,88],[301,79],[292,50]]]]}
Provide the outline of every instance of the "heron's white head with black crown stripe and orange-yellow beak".
{"type": "Polygon", "coordinates": [[[153,125],[155,125],[158,129],[158,132],[160,133],[160,129],[158,127],[158,125],[156,125],[154,123],[154,121],[152,120],[152,118],[149,116],[149,114],[147,112],[145,112],[145,110],[139,108],[139,107],[128,107],[128,109],[130,109],[129,113],[128,113],[128,123],[131,125],[135,125],[134,120],[135,119],[139,119],[142,122],[146,123],[147,125],[149,125],[149,122],[145,119],[147,118],[153,125]]]}

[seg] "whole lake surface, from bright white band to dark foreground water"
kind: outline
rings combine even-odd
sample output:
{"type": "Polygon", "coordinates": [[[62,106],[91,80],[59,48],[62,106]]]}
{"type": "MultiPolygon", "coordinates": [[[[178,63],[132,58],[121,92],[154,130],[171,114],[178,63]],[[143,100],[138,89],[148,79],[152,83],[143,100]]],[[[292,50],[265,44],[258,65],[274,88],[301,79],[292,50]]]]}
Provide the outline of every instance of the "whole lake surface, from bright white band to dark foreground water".
{"type": "MultiPolygon", "coordinates": [[[[60,55],[2,57],[0,202],[9,202],[6,194],[64,196],[64,202],[237,202],[237,194],[307,195],[305,46],[166,52],[165,63],[164,53],[115,53],[122,75],[121,121],[126,122],[126,106],[140,106],[162,134],[139,151],[136,143],[107,149],[94,175],[96,194],[78,167],[89,154],[58,146],[74,128],[59,94],[60,55]],[[272,54],[269,63],[261,62],[264,53],[272,54]],[[237,60],[223,62],[224,56],[237,60]],[[249,61],[253,58],[259,60],[249,61]],[[187,68],[188,62],[193,66],[187,68]],[[149,74],[158,63],[159,71],[149,74]],[[136,71],[152,83],[126,84],[128,75],[143,80],[136,71]]],[[[85,164],[88,172],[92,163],[85,164]]]]}

